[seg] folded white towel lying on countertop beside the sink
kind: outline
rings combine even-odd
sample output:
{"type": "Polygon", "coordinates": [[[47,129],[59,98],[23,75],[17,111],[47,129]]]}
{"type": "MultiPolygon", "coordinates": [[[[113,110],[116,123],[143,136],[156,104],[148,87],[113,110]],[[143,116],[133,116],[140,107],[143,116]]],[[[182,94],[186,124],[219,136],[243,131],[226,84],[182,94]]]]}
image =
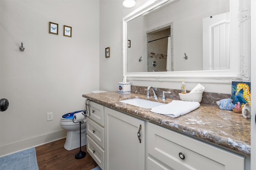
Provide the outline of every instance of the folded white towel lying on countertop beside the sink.
{"type": "Polygon", "coordinates": [[[190,111],[193,111],[194,109],[197,109],[199,106],[200,103],[198,102],[173,100],[168,104],[153,107],[150,111],[170,117],[179,117],[181,115],[189,113],[190,111]]]}

